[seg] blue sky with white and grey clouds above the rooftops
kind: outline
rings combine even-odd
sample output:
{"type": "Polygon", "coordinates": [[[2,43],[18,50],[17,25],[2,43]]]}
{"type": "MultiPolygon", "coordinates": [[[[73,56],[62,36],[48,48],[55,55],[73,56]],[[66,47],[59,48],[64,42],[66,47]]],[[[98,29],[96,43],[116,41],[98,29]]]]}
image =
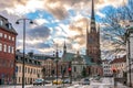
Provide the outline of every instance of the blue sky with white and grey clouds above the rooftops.
{"type": "MultiPolygon", "coordinates": [[[[96,23],[105,18],[102,12],[106,8],[117,8],[123,6],[123,1],[94,0],[96,23]]],[[[65,41],[69,52],[85,54],[85,28],[90,22],[91,0],[0,0],[0,14],[18,32],[18,50],[22,50],[23,29],[22,22],[17,25],[16,21],[27,18],[34,21],[34,24],[27,21],[27,52],[52,55],[55,45],[62,51],[65,41]]]]}

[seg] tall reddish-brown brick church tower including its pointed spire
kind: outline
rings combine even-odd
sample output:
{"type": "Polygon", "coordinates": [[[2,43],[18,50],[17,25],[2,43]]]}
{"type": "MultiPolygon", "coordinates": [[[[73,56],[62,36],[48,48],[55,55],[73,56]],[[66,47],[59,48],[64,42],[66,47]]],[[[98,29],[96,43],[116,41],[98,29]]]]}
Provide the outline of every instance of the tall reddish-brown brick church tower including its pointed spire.
{"type": "Polygon", "coordinates": [[[94,1],[92,0],[90,31],[86,24],[86,55],[92,57],[92,62],[100,64],[100,28],[95,25],[94,1]]]}

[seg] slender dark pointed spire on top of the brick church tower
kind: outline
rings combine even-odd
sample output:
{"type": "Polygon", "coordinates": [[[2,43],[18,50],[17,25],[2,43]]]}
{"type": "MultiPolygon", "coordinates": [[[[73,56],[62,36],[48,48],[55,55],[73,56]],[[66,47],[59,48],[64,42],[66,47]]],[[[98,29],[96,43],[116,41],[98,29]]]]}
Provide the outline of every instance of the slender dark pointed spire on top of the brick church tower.
{"type": "Polygon", "coordinates": [[[92,11],[91,11],[91,32],[96,31],[95,29],[95,16],[94,16],[94,0],[92,0],[92,11]]]}

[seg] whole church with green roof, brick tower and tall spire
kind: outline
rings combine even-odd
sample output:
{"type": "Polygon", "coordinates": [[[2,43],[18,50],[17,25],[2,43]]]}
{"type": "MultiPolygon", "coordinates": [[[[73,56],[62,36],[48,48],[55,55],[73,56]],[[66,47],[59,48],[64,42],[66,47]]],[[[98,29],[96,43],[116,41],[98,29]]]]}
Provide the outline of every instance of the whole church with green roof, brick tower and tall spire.
{"type": "Polygon", "coordinates": [[[88,76],[102,75],[101,50],[100,50],[100,29],[95,25],[94,2],[92,0],[90,31],[86,26],[86,54],[81,55],[68,53],[66,45],[63,46],[63,56],[60,62],[71,62],[72,77],[81,77],[81,72],[85,68],[88,76]]]}

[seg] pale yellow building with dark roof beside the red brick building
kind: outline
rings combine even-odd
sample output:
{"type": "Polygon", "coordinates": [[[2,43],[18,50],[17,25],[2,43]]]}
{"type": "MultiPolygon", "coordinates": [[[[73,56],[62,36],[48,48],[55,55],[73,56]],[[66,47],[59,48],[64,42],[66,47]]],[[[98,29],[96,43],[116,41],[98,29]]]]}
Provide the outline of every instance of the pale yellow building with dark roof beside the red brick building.
{"type": "MultiPolygon", "coordinates": [[[[16,54],[16,84],[22,84],[22,59],[23,54],[17,52],[16,54]]],[[[24,63],[24,82],[32,84],[34,79],[42,78],[41,62],[34,59],[32,56],[25,55],[24,63]]]]}

